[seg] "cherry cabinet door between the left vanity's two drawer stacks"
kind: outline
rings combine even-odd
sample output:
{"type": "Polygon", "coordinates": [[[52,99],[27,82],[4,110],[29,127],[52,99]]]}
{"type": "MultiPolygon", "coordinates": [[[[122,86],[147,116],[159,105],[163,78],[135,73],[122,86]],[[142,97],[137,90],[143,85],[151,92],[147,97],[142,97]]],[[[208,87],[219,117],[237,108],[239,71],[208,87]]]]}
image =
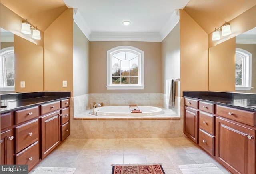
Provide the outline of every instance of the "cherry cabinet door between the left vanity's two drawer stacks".
{"type": "Polygon", "coordinates": [[[42,159],[60,144],[60,111],[42,116],[42,159]]]}

